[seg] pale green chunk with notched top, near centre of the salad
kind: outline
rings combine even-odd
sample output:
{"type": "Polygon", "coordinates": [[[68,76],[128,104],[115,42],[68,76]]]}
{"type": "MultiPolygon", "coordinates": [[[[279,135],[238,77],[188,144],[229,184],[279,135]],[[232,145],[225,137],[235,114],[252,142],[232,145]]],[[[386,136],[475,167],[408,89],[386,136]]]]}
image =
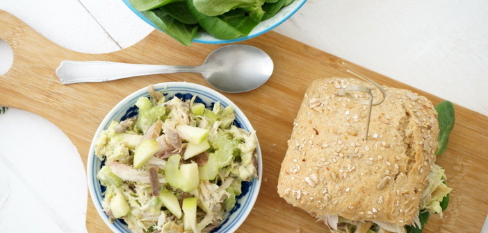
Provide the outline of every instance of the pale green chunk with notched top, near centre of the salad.
{"type": "Polygon", "coordinates": [[[180,155],[171,155],[165,165],[165,178],[173,187],[192,191],[200,185],[198,165],[195,163],[179,165],[180,155]]]}

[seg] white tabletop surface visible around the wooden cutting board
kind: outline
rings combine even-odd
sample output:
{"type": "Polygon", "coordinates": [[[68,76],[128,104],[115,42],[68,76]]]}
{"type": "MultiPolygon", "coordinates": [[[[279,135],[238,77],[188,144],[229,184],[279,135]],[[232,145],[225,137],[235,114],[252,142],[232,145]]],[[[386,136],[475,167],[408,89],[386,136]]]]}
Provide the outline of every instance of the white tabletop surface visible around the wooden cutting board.
{"type": "MultiPolygon", "coordinates": [[[[0,0],[0,9],[83,53],[124,49],[153,30],[121,0],[0,0]]],[[[275,31],[488,115],[488,1],[309,0],[275,31]]],[[[29,231],[13,208],[26,205],[39,213],[35,232],[85,232],[85,173],[69,139],[14,109],[0,129],[0,232],[29,231]],[[52,172],[68,168],[70,177],[52,172]]]]}

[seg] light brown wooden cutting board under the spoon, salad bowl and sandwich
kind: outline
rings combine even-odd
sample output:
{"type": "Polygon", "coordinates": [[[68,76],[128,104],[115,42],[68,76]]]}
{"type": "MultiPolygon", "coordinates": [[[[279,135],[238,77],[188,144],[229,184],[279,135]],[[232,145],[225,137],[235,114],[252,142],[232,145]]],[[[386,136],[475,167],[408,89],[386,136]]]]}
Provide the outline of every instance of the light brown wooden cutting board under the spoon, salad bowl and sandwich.
{"type": "MultiPolygon", "coordinates": [[[[82,36],[82,35],[80,35],[82,36]]],[[[200,74],[167,74],[108,83],[61,85],[54,71],[61,60],[108,60],[141,64],[199,65],[217,44],[174,42],[154,31],[128,49],[108,54],[83,54],[60,47],[0,10],[0,39],[12,46],[15,60],[0,76],[0,105],[39,114],[73,141],[86,167],[95,130],[109,110],[132,92],[154,83],[187,81],[209,87],[200,74]]],[[[238,232],[327,232],[306,212],[288,205],[277,194],[277,178],[293,120],[305,89],[316,78],[348,76],[343,60],[274,32],[242,42],[269,53],[275,72],[268,83],[252,92],[225,94],[257,130],[263,154],[263,184],[250,216],[238,232]]],[[[434,103],[440,98],[352,65],[362,74],[391,87],[412,89],[434,103]]],[[[456,100],[450,100],[456,102],[456,100]]],[[[456,125],[448,151],[437,159],[454,190],[444,218],[432,216],[425,232],[479,232],[488,213],[488,116],[455,106],[456,125]]],[[[40,152],[42,153],[42,152],[40,152]]],[[[88,194],[87,194],[88,195],[88,194]]],[[[88,201],[89,232],[110,232],[88,201]]]]}

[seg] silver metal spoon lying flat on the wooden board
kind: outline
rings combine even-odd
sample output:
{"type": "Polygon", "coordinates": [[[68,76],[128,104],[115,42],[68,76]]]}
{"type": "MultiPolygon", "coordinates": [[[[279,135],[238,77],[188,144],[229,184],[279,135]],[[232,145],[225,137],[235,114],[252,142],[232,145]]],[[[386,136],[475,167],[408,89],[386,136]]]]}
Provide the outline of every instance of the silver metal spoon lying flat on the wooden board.
{"type": "Polygon", "coordinates": [[[212,87],[222,92],[247,92],[266,83],[273,74],[273,60],[256,47],[231,44],[215,49],[198,67],[63,61],[56,69],[56,75],[63,84],[180,72],[200,73],[212,87]]]}

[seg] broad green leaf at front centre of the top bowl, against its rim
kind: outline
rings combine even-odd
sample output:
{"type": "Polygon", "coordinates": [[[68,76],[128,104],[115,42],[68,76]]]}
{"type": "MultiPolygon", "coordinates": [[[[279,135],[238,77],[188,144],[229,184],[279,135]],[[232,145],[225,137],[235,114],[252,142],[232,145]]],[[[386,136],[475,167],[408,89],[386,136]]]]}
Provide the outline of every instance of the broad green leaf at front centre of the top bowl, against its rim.
{"type": "Polygon", "coordinates": [[[202,12],[199,12],[195,6],[193,6],[193,0],[186,0],[186,3],[188,4],[188,9],[190,9],[190,12],[192,12],[192,14],[195,15],[195,18],[197,18],[200,26],[202,26],[202,28],[204,28],[205,31],[213,37],[221,40],[231,40],[244,36],[241,31],[238,31],[237,28],[229,25],[226,21],[223,21],[219,17],[208,16],[204,15],[202,12]]]}

